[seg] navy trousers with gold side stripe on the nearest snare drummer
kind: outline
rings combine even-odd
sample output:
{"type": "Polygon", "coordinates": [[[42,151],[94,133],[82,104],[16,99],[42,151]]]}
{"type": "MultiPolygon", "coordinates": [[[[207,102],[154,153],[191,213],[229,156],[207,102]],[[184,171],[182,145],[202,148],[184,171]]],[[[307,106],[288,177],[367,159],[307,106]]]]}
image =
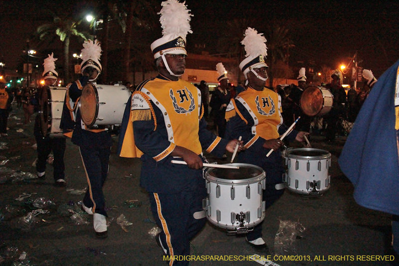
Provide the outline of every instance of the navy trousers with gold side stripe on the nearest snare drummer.
{"type": "MultiPolygon", "coordinates": [[[[195,213],[204,212],[202,199],[205,197],[205,184],[195,191],[182,191],[176,194],[150,193],[151,210],[157,225],[163,229],[160,235],[161,243],[167,251],[167,256],[190,255],[190,240],[206,223],[204,215],[200,219],[194,217],[195,213]]],[[[171,260],[168,264],[187,266],[189,261],[171,260]]]]}

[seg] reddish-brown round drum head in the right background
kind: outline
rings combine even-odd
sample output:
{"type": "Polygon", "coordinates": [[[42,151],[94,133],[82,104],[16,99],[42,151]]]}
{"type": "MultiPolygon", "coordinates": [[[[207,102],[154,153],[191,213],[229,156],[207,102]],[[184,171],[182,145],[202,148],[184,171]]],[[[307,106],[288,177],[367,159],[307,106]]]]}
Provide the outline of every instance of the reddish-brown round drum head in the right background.
{"type": "Polygon", "coordinates": [[[301,96],[301,109],[308,116],[317,115],[323,108],[323,93],[316,86],[305,89],[301,96]]]}

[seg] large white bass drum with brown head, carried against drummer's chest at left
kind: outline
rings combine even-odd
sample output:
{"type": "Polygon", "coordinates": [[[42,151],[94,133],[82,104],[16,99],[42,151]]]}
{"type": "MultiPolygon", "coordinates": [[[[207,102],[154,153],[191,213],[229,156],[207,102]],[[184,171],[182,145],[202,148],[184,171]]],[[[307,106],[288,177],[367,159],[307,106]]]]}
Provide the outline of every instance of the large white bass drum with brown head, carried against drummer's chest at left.
{"type": "Polygon", "coordinates": [[[130,95],[125,86],[88,83],[79,101],[82,121],[89,127],[122,124],[130,95]]]}

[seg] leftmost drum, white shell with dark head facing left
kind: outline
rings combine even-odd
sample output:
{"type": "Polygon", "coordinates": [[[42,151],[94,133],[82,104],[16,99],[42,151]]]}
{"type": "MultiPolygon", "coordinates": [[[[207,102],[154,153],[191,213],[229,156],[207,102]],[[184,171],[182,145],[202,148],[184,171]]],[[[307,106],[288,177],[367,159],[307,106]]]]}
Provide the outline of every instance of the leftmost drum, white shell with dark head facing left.
{"type": "Polygon", "coordinates": [[[40,95],[40,133],[43,137],[64,137],[59,128],[64,106],[65,87],[43,87],[40,95]]]}

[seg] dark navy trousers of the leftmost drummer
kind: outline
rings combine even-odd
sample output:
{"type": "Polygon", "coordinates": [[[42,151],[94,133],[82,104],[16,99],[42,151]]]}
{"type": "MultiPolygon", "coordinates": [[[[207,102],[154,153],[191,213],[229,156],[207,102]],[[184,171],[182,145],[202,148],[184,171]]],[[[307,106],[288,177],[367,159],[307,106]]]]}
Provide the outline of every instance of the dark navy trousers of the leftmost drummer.
{"type": "Polygon", "coordinates": [[[65,179],[65,138],[42,138],[35,136],[37,143],[37,159],[36,171],[39,173],[45,172],[47,158],[51,151],[54,154],[53,168],[54,168],[54,181],[58,179],[65,179]]]}

